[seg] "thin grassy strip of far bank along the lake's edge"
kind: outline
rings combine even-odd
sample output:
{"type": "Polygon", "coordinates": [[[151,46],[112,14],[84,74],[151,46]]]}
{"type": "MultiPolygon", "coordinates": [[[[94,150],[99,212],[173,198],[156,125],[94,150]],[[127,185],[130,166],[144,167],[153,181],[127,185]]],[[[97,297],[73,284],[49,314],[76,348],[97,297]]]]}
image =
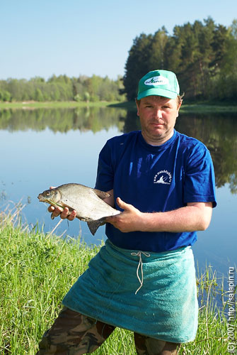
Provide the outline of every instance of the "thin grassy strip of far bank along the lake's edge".
{"type": "MultiPolygon", "coordinates": [[[[0,109],[74,109],[76,107],[117,107],[135,110],[135,102],[0,102],[0,109]]],[[[233,102],[197,102],[183,104],[183,113],[233,113],[237,114],[237,105],[233,102]]]]}

